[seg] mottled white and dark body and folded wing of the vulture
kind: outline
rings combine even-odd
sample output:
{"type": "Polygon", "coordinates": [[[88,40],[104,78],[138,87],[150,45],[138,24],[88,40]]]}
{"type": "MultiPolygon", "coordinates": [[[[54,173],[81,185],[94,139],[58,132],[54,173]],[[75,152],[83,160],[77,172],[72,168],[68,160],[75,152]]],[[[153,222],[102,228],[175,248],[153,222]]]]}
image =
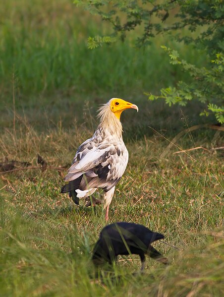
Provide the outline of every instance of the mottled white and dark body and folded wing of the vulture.
{"type": "Polygon", "coordinates": [[[128,152],[122,140],[114,142],[111,138],[99,144],[95,135],[80,145],[64,180],[72,181],[83,175],[80,190],[101,187],[108,191],[122,177],[127,162],[128,152]]]}

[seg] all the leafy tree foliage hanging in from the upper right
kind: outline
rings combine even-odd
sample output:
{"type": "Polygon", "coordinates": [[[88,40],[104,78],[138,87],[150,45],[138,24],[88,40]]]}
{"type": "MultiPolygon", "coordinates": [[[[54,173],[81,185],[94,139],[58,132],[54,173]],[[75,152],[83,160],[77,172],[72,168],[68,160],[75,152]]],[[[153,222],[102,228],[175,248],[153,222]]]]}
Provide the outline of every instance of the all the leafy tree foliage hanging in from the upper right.
{"type": "Polygon", "coordinates": [[[89,38],[90,49],[102,46],[103,43],[114,43],[118,39],[124,40],[127,32],[139,27],[140,34],[136,39],[138,47],[151,45],[158,34],[168,34],[170,39],[203,50],[211,62],[199,68],[180,59],[177,51],[163,46],[170,63],[179,65],[187,72],[191,82],[187,84],[179,81],[176,87],[162,89],[161,96],[150,94],[149,99],[164,98],[169,106],[175,103],[186,105],[190,100],[198,100],[205,104],[200,115],[212,112],[220,123],[224,123],[222,0],[75,0],[75,3],[112,24],[111,37],[89,38]]]}

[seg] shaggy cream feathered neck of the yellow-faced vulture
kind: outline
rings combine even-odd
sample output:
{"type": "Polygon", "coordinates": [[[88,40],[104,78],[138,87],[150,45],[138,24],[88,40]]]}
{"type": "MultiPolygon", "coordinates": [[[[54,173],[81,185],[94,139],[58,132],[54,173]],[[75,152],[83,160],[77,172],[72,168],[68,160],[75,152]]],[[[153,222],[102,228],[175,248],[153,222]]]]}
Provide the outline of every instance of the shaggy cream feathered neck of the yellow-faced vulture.
{"type": "Polygon", "coordinates": [[[111,134],[122,138],[122,125],[119,119],[112,113],[110,105],[104,104],[99,108],[98,118],[99,126],[103,128],[106,134],[111,134]]]}

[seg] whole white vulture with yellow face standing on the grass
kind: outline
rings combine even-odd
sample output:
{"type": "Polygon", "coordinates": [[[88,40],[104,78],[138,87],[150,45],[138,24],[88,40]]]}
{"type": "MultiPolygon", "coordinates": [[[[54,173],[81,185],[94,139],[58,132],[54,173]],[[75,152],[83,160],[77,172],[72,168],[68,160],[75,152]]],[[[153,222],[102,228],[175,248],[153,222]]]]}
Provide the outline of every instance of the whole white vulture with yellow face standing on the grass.
{"type": "Polygon", "coordinates": [[[71,167],[64,177],[67,184],[61,193],[69,196],[78,205],[79,198],[89,197],[97,188],[104,190],[105,219],[108,221],[109,206],[114,188],[122,177],[128,162],[128,151],[122,139],[120,115],[126,109],[138,107],[118,98],[112,98],[99,108],[99,125],[93,137],[78,148],[71,167]]]}

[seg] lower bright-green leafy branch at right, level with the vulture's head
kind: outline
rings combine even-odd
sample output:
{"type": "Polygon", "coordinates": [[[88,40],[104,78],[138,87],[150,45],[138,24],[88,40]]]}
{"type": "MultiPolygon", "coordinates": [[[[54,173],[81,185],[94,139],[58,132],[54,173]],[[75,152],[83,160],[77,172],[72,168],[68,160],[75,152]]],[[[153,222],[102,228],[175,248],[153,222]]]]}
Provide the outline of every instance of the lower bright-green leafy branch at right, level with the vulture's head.
{"type": "Polygon", "coordinates": [[[210,98],[210,101],[220,103],[223,100],[224,57],[221,54],[217,54],[217,59],[211,61],[215,63],[213,67],[197,68],[185,60],[180,60],[176,51],[172,51],[165,46],[163,48],[168,52],[170,63],[181,65],[182,69],[187,71],[192,77],[192,82],[186,84],[183,81],[179,81],[177,87],[163,88],[161,96],[146,93],[146,95],[149,95],[149,99],[164,98],[169,106],[175,103],[185,106],[189,100],[198,100],[207,105],[207,109],[200,114],[201,116],[208,116],[209,111],[211,111],[220,123],[224,123],[224,106],[217,106],[208,100],[210,98]]]}

